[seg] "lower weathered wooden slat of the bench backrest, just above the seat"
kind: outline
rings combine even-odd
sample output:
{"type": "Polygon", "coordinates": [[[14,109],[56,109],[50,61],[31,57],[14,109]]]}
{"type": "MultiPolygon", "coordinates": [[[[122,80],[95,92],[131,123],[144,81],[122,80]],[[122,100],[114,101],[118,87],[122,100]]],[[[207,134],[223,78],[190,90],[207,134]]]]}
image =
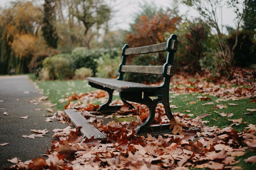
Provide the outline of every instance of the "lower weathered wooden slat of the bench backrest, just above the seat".
{"type": "MultiPolygon", "coordinates": [[[[162,65],[157,65],[157,66],[122,65],[121,71],[129,72],[129,73],[162,75],[163,66],[162,65]]],[[[169,76],[172,76],[174,74],[174,66],[168,66],[166,74],[169,76]]]]}

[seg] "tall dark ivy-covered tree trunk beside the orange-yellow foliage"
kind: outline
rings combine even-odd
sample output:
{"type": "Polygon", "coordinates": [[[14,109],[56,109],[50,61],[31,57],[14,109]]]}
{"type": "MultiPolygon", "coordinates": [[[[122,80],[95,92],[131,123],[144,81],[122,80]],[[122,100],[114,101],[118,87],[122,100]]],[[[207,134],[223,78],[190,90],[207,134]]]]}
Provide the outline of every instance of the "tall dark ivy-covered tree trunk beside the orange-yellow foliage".
{"type": "Polygon", "coordinates": [[[56,33],[55,21],[55,10],[54,0],[45,0],[44,3],[44,18],[43,18],[43,36],[49,47],[54,49],[57,48],[58,35],[56,33]]]}

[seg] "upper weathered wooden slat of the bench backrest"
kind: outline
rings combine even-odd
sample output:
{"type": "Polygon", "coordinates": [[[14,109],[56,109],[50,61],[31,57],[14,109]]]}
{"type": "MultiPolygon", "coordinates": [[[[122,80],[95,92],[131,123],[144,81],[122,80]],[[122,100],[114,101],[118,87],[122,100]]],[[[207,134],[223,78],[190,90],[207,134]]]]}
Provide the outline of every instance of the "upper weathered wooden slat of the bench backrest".
{"type": "Polygon", "coordinates": [[[135,55],[135,54],[148,54],[148,53],[156,53],[166,51],[167,42],[163,42],[160,44],[154,44],[150,46],[144,47],[136,47],[136,48],[128,48],[125,49],[125,55],[135,55]]]}

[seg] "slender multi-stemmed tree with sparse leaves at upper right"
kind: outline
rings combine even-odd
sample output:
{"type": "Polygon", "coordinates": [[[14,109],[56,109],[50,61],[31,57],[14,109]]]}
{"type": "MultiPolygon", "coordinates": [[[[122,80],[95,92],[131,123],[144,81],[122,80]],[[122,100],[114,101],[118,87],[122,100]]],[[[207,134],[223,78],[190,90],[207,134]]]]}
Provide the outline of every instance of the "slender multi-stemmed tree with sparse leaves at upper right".
{"type": "Polygon", "coordinates": [[[236,29],[236,41],[232,48],[228,46],[227,41],[223,37],[223,33],[221,32],[221,29],[218,25],[218,17],[216,14],[217,9],[220,9],[224,4],[223,1],[220,0],[185,0],[182,1],[184,4],[193,7],[196,9],[199,14],[205,19],[205,21],[211,26],[212,28],[215,28],[215,31],[217,32],[216,41],[218,42],[219,46],[219,59],[225,61],[223,65],[220,65],[225,70],[229,70],[233,63],[234,58],[234,49],[237,46],[238,42],[238,31],[240,28],[240,23],[243,19],[244,15],[244,9],[248,6],[247,0],[244,0],[242,5],[243,9],[240,12],[238,6],[240,4],[239,0],[230,0],[226,1],[226,4],[228,4],[228,7],[235,8],[235,12],[237,13],[237,29],[236,29]]]}

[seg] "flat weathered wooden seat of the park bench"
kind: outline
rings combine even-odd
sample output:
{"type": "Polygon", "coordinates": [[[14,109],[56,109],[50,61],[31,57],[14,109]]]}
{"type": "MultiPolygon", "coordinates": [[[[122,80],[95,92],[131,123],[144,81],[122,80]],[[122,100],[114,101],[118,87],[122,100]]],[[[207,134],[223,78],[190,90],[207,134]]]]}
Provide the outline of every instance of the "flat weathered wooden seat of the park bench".
{"type": "Polygon", "coordinates": [[[120,92],[155,92],[157,86],[150,86],[141,83],[133,83],[109,78],[87,77],[90,83],[95,83],[120,92]]]}

